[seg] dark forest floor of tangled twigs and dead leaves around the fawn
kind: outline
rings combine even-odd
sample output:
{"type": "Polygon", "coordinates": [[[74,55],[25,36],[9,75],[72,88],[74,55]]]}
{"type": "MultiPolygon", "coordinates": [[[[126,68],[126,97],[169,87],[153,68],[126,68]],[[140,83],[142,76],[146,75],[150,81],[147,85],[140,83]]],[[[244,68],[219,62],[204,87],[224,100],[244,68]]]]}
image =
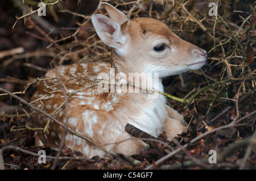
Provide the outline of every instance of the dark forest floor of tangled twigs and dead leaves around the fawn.
{"type": "Polygon", "coordinates": [[[90,23],[100,13],[98,1],[51,1],[46,16],[28,15],[27,7],[38,10],[38,1],[25,2],[0,2],[0,168],[256,169],[255,1],[117,1],[131,18],[152,16],[207,50],[208,65],[163,79],[165,92],[183,99],[169,96],[168,103],[184,115],[187,132],[172,142],[162,134],[148,150],[112,159],[73,157],[70,149],[56,159],[57,152],[36,146],[34,131],[25,127],[33,123],[24,101],[31,102],[37,78],[53,62],[109,61],[110,49],[90,23]],[[209,15],[210,2],[217,3],[216,16],[209,15]],[[46,152],[46,163],[39,163],[39,150],[46,152]]]}

